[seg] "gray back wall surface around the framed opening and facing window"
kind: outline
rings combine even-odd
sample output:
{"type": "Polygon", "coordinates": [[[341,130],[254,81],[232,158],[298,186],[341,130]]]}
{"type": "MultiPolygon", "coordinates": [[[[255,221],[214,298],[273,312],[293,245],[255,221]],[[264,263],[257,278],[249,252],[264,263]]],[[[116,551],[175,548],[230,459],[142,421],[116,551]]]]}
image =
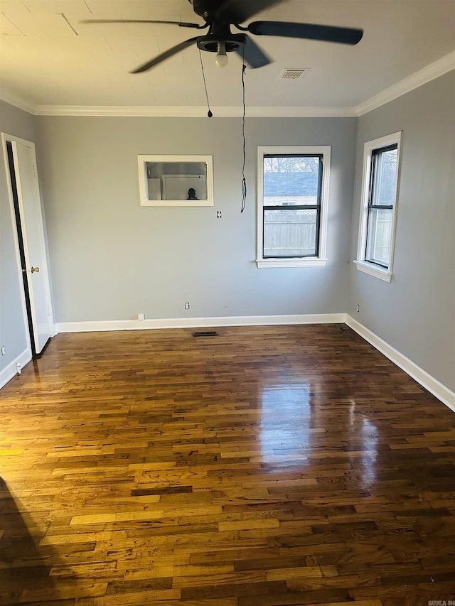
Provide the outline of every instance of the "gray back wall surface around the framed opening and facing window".
{"type": "Polygon", "coordinates": [[[241,119],[38,118],[56,321],[344,313],[356,128],[247,119],[240,214],[241,119]],[[272,144],[332,146],[326,267],[257,269],[257,146],[272,144]],[[191,153],[213,155],[215,207],[140,207],[138,154],[191,153]]]}

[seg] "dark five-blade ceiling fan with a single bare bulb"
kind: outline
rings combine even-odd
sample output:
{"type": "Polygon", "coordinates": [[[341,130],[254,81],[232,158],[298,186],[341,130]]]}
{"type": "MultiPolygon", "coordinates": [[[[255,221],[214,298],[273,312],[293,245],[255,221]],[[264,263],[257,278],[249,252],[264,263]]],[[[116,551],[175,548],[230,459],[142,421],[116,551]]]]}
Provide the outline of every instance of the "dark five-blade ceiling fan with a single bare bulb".
{"type": "Polygon", "coordinates": [[[220,67],[228,65],[227,53],[238,53],[252,68],[263,67],[272,60],[246,33],[232,33],[231,26],[240,32],[254,36],[282,36],[284,38],[302,38],[357,44],[363,36],[363,30],[335,26],[315,25],[312,23],[294,23],[289,21],[252,21],[244,23],[259,11],[267,9],[282,0],[188,0],[193,4],[194,12],[203,18],[204,23],[186,23],[183,21],[154,21],[149,19],[90,19],[82,23],[168,23],[181,28],[208,28],[208,33],[195,36],[165,50],[164,53],[140,65],[132,73],[137,74],[151,69],[181,50],[196,44],[200,50],[217,53],[216,63],[220,67]]]}

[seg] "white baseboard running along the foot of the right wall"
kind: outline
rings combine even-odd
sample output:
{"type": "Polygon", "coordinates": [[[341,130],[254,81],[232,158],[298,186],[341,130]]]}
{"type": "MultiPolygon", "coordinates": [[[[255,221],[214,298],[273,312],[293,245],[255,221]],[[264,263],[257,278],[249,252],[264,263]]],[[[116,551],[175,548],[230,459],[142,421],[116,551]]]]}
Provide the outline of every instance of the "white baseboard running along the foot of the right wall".
{"type": "Polygon", "coordinates": [[[395,350],[395,347],[389,345],[387,342],[378,337],[378,335],[375,335],[374,332],[371,332],[371,330],[365,328],[363,324],[360,324],[357,320],[354,320],[352,316],[346,314],[345,321],[350,328],[355,330],[355,332],[360,335],[360,337],[363,337],[365,341],[368,341],[371,345],[373,345],[373,347],[384,354],[385,357],[397,364],[397,366],[409,374],[412,379],[417,381],[417,383],[422,385],[422,387],[427,389],[431,394],[436,396],[437,399],[441,400],[443,404],[455,412],[454,391],[451,391],[448,387],[432,377],[432,375],[426,370],[417,366],[417,364],[412,362],[411,359],[395,350]]]}

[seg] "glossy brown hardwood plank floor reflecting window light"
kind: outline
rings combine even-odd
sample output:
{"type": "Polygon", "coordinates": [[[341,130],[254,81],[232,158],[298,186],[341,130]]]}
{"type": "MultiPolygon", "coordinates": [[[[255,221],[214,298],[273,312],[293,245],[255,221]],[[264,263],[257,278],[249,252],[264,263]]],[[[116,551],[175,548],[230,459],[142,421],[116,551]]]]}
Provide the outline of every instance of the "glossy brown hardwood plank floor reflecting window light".
{"type": "Polygon", "coordinates": [[[455,600],[454,413],[346,325],[217,330],[58,335],[1,390],[1,605],[455,600]]]}

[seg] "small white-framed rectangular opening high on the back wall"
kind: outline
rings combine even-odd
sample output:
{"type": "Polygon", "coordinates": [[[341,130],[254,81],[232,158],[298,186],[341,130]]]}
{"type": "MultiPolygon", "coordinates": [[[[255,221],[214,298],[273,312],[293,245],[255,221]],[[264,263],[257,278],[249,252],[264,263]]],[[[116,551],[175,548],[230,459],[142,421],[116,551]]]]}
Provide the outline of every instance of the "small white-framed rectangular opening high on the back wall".
{"type": "Polygon", "coordinates": [[[138,156],[141,206],[213,206],[212,156],[138,156]]]}

